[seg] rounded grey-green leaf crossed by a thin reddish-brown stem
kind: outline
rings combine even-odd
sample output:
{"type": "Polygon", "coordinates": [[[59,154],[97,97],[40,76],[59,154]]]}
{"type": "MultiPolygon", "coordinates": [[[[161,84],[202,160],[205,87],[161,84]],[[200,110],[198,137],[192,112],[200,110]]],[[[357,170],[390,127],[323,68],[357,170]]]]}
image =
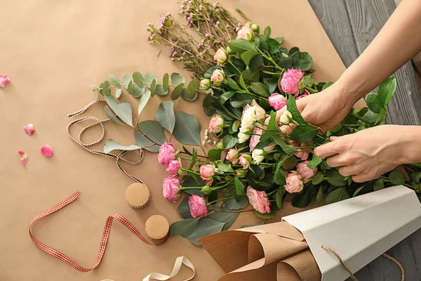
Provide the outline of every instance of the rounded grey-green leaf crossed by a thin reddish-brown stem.
{"type": "Polygon", "coordinates": [[[154,120],[147,120],[140,122],[138,124],[138,128],[140,131],[142,131],[145,136],[143,136],[142,133],[135,131],[135,141],[136,143],[145,150],[148,150],[150,152],[159,152],[159,147],[166,142],[166,136],[163,134],[163,128],[159,122],[156,122],[154,120]],[[154,143],[158,143],[158,145],[154,145],[152,141],[149,141],[149,139],[154,141],[154,143]]]}

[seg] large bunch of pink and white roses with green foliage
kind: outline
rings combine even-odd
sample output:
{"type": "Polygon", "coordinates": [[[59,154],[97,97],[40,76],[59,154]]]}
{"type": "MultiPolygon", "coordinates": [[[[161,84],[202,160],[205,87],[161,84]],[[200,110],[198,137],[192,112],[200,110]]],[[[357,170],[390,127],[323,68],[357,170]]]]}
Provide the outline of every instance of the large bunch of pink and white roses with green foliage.
{"type": "Polygon", "coordinates": [[[352,109],[335,128],[322,131],[306,122],[296,106],[296,100],[333,84],[312,77],[315,70],[308,53],[298,47],[288,50],[282,46],[282,37],[271,37],[270,27],[260,32],[255,23],[242,24],[218,3],[185,0],[180,13],[187,27],[166,13],[158,27],[148,23],[147,39],[149,44],[170,47],[171,60],[192,72],[189,84],[178,73],[164,74],[159,82],[152,73],[134,72],[122,81],[111,75],[109,81],[93,86],[105,97],[109,118],[135,131],[136,145],[109,140],[105,152],[141,148],[159,152],[159,163],[169,174],[163,180],[163,196],[178,202],[183,192],[187,194],[178,208],[183,220],[173,223],[171,235],[198,244],[196,240],[203,236],[227,230],[242,211],[254,211],[263,221],[273,218],[287,195],[293,197],[294,207],[303,208],[314,198],[319,204],[325,198],[329,204],[391,185],[403,184],[420,192],[420,164],[406,165],[407,174],[392,171],[355,183],[313,154],[330,136],[384,124],[386,106],[396,89],[394,77],[366,96],[368,107],[352,109]],[[117,103],[111,94],[115,89],[118,99],[122,88],[140,98],[138,115],[150,97],[165,96],[170,88],[172,100],[193,101],[198,94],[206,95],[203,110],[211,118],[204,141],[196,117],[175,114],[173,101],[159,105],[156,120],[137,120],[133,125],[131,105],[117,103]],[[195,148],[176,148],[163,129],[182,144],[201,146],[203,155],[195,148]],[[206,153],[203,145],[209,144],[214,148],[206,153]],[[248,204],[253,209],[243,210],[248,204]]]}

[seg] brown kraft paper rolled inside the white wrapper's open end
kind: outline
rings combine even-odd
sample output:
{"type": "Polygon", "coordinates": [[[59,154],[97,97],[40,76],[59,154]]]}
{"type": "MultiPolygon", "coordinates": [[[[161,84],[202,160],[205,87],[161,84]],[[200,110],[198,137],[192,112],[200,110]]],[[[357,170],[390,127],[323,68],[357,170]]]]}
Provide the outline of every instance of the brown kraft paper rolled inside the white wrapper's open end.
{"type": "Polygon", "coordinates": [[[227,273],[220,281],[321,280],[304,236],[284,221],[216,233],[199,242],[227,273]]]}

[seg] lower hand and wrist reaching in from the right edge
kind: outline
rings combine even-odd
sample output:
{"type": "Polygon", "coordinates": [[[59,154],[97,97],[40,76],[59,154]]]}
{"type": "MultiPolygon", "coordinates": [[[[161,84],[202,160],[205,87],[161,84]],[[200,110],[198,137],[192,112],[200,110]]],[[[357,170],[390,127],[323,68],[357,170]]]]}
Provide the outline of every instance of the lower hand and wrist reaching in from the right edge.
{"type": "Polygon", "coordinates": [[[328,157],[328,165],[340,167],[342,176],[352,176],[355,182],[370,181],[399,164],[416,162],[419,133],[417,126],[382,125],[331,137],[330,143],[314,148],[314,154],[328,157]]]}

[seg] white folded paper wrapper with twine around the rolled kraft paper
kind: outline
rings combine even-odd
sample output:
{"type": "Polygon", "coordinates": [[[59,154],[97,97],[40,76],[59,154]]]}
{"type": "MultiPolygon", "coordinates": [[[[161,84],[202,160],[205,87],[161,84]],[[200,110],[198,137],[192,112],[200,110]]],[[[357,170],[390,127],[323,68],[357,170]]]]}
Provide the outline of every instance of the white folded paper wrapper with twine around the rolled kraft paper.
{"type": "Polygon", "coordinates": [[[403,185],[286,216],[283,221],[300,230],[316,259],[322,281],[340,281],[421,228],[421,204],[403,185]]]}

